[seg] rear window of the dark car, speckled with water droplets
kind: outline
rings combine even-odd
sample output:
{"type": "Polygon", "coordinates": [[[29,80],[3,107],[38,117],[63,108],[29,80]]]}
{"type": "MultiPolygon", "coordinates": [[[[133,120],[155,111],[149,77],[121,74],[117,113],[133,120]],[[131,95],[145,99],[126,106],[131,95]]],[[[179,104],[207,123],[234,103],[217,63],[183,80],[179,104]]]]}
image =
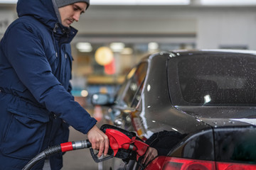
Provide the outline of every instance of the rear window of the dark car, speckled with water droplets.
{"type": "MultiPolygon", "coordinates": [[[[181,95],[171,94],[174,105],[248,106],[256,103],[256,58],[253,55],[181,57],[175,67],[178,86],[171,88],[181,95]]],[[[171,77],[169,79],[171,82],[171,77]]]]}

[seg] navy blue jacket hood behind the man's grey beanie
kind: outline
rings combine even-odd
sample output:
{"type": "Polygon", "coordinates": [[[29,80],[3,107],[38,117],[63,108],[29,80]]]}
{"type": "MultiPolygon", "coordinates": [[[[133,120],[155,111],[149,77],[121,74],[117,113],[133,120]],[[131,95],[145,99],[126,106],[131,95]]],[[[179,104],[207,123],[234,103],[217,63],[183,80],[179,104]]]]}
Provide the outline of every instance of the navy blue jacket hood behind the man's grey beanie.
{"type": "Polygon", "coordinates": [[[48,28],[54,28],[59,23],[58,8],[53,5],[54,0],[18,0],[18,17],[33,16],[48,28]]]}

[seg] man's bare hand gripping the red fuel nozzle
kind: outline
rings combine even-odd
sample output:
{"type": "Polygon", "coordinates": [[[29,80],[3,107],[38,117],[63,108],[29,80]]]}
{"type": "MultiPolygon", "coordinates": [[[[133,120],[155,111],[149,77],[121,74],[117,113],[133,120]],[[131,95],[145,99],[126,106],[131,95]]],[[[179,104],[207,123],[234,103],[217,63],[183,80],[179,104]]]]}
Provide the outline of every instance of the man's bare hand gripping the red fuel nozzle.
{"type": "Polygon", "coordinates": [[[104,155],[107,155],[107,151],[109,149],[109,140],[107,135],[102,132],[97,126],[95,125],[92,129],[87,132],[88,140],[92,144],[92,149],[99,150],[97,157],[101,157],[104,151],[104,155]]]}

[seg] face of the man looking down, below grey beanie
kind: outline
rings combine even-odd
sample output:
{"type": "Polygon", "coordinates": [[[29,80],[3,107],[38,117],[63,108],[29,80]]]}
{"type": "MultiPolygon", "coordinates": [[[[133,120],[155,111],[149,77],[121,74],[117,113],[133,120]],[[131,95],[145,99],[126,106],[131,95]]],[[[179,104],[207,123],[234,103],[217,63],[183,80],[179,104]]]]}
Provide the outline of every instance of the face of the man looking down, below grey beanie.
{"type": "Polygon", "coordinates": [[[80,15],[85,13],[87,4],[85,2],[77,2],[68,6],[63,6],[59,8],[61,23],[65,27],[70,27],[73,21],[78,21],[80,15]]]}

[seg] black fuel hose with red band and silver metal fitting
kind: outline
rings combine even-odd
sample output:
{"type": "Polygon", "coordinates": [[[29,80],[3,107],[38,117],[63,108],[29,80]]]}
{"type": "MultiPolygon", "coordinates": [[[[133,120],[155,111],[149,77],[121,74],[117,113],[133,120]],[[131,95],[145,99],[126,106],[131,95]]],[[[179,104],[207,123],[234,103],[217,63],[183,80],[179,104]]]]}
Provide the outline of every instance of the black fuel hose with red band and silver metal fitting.
{"type": "Polygon", "coordinates": [[[40,162],[42,159],[45,159],[46,157],[50,157],[53,154],[57,154],[59,152],[68,152],[76,149],[84,149],[89,147],[92,147],[89,140],[81,140],[78,142],[66,142],[60,145],[55,145],[53,147],[48,147],[47,149],[43,150],[43,152],[37,154],[36,157],[33,157],[33,159],[31,159],[31,161],[28,162],[28,164],[26,164],[26,166],[24,166],[22,170],[32,169],[35,164],[40,162]]]}

